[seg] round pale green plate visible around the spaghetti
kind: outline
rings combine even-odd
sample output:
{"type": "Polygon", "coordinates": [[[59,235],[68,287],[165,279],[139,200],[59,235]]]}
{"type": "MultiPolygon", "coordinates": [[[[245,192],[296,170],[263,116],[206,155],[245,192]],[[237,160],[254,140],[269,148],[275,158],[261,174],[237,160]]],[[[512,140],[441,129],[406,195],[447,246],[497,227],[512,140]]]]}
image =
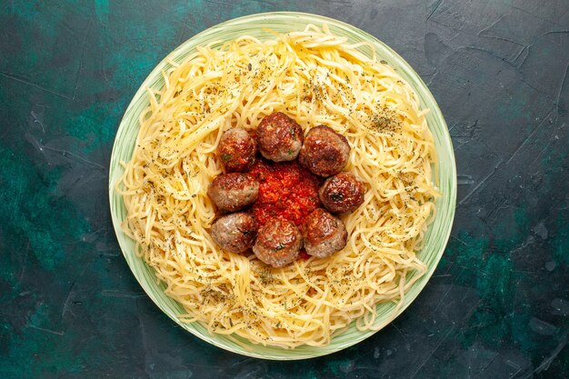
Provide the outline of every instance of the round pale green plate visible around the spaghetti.
{"type": "MultiPolygon", "coordinates": [[[[227,40],[235,39],[242,35],[253,35],[259,39],[274,38],[267,32],[267,29],[286,33],[292,31],[302,31],[308,24],[323,25],[326,24],[334,35],[342,35],[348,38],[349,43],[358,43],[366,41],[374,45],[375,53],[378,59],[387,61],[389,65],[403,76],[404,79],[414,88],[419,96],[421,108],[429,108],[430,112],[426,116],[429,129],[434,135],[434,143],[439,159],[437,185],[442,194],[436,200],[436,217],[434,223],[428,227],[424,249],[418,254],[424,264],[427,265],[428,271],[409,289],[404,298],[404,304],[397,314],[401,314],[404,309],[414,301],[414,298],[421,292],[424,285],[434,272],[441,256],[444,252],[444,246],[448,240],[453,224],[454,207],[456,200],[456,168],[454,165],[453,145],[443,115],[434,101],[433,95],[429,92],[423,80],[417,75],[413,68],[408,65],[404,59],[397,55],[390,47],[378,41],[374,36],[368,35],[364,31],[355,28],[352,25],[344,24],[340,21],[323,17],[320,15],[309,15],[302,13],[280,12],[259,15],[247,15],[241,18],[235,18],[225,23],[215,25],[199,35],[187,40],[184,44],[178,46],[167,58],[176,63],[182,62],[186,56],[195,51],[195,47],[199,45],[208,45],[215,43],[214,46],[222,45],[227,40]]],[[[365,55],[371,55],[369,46],[362,46],[360,51],[365,55]]],[[[166,296],[164,293],[165,284],[158,284],[155,272],[145,262],[135,255],[135,243],[128,238],[121,230],[121,223],[125,219],[126,210],[123,198],[115,192],[115,184],[123,174],[121,161],[128,162],[131,159],[135,147],[135,139],[138,133],[138,115],[148,106],[148,96],[145,88],[160,89],[164,85],[164,79],[161,72],[170,65],[163,60],[148,75],[145,82],[140,86],[128,105],[125,116],[119,125],[115,138],[113,154],[111,156],[110,175],[109,175],[109,196],[111,204],[111,214],[113,216],[113,224],[115,224],[115,233],[118,242],[123,250],[127,264],[130,266],[133,274],[135,274],[138,283],[145,289],[146,294],[155,302],[156,305],[175,323],[181,325],[188,332],[195,334],[204,341],[215,344],[215,346],[226,350],[255,356],[265,359],[277,360],[293,360],[311,358],[319,355],[330,354],[344,349],[345,347],[357,344],[365,338],[374,334],[374,331],[359,331],[352,323],[351,327],[344,334],[337,335],[333,338],[331,344],[327,346],[314,347],[303,345],[292,350],[286,350],[280,347],[263,346],[259,344],[251,344],[250,342],[240,338],[228,338],[221,334],[209,334],[203,324],[184,324],[178,320],[178,314],[184,314],[184,310],[175,300],[166,296]]],[[[413,274],[410,274],[413,275],[413,274]]],[[[375,326],[384,327],[389,324],[390,315],[394,311],[394,304],[378,304],[377,318],[375,326]]]]}

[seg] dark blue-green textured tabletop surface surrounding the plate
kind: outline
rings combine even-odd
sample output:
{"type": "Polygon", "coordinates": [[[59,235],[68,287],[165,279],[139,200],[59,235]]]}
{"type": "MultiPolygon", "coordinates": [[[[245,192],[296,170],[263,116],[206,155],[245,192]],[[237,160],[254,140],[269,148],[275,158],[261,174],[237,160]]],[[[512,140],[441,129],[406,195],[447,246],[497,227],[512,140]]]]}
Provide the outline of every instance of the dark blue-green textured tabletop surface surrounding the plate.
{"type": "Polygon", "coordinates": [[[0,3],[0,378],[566,378],[564,0],[0,3]],[[538,4],[539,3],[539,4],[538,4]],[[340,19],[414,66],[458,165],[454,230],[414,304],[304,362],[205,344],[135,283],[108,211],[126,105],[176,45],[239,15],[340,19]]]}

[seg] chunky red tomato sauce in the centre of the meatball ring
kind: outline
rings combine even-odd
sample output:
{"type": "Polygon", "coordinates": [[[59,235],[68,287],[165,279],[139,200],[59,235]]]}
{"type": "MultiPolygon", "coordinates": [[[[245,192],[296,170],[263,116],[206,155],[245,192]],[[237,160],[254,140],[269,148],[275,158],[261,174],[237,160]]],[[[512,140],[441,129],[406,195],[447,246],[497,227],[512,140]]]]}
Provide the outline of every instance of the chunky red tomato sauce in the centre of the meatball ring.
{"type": "Polygon", "coordinates": [[[321,206],[318,189],[323,180],[296,161],[274,163],[257,159],[250,174],[259,181],[259,196],[251,208],[259,225],[276,217],[298,226],[321,206]]]}

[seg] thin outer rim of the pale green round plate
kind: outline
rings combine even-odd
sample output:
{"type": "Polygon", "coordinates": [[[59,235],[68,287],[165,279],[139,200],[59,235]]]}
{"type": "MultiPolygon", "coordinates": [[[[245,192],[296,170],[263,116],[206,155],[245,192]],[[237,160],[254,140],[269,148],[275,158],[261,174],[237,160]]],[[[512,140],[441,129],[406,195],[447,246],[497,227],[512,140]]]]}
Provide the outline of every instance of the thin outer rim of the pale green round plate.
{"type": "MultiPolygon", "coordinates": [[[[410,84],[411,85],[411,84],[410,84]]],[[[412,85],[412,87],[414,88],[414,91],[417,91],[417,89],[414,87],[414,85],[412,85]]],[[[438,155],[438,152],[437,152],[438,155]]],[[[120,175],[119,175],[120,176],[120,175]]],[[[439,184],[440,187],[440,184],[439,184]]],[[[416,298],[424,291],[424,288],[426,287],[426,285],[429,283],[432,275],[434,274],[434,271],[436,270],[436,267],[438,266],[438,264],[440,263],[440,260],[444,254],[444,251],[446,249],[446,246],[448,244],[448,240],[450,238],[452,229],[453,229],[453,224],[454,224],[454,214],[455,214],[455,210],[456,210],[456,192],[457,192],[457,180],[456,180],[456,161],[455,161],[455,156],[454,156],[454,146],[453,146],[453,142],[450,136],[450,133],[448,131],[448,125],[446,125],[446,122],[444,120],[444,116],[443,113],[438,105],[438,103],[436,102],[436,100],[434,99],[434,95],[431,93],[429,87],[424,83],[423,78],[421,78],[420,75],[418,75],[413,67],[411,65],[409,65],[407,63],[407,61],[404,60],[404,58],[397,54],[394,49],[392,49],[389,45],[384,44],[384,42],[382,42],[381,40],[379,40],[377,37],[375,37],[374,35],[371,35],[367,32],[365,32],[364,30],[360,29],[357,26],[354,25],[350,25],[348,23],[345,23],[344,21],[341,20],[337,20],[334,19],[332,17],[328,17],[328,16],[324,16],[324,15],[316,15],[316,14],[310,14],[310,13],[304,13],[304,12],[294,12],[294,11],[283,11],[283,12],[265,12],[265,13],[257,13],[257,14],[251,14],[251,15],[243,15],[240,17],[235,17],[235,18],[231,18],[228,20],[225,20],[221,23],[218,23],[216,25],[212,25],[209,26],[207,28],[205,28],[205,30],[190,36],[189,38],[187,38],[184,42],[182,42],[181,44],[177,45],[175,47],[175,49],[173,49],[172,51],[170,51],[168,54],[165,55],[165,57],[157,64],[155,65],[155,67],[152,69],[152,71],[145,77],[145,80],[143,81],[143,83],[138,87],[138,89],[135,92],[135,95],[133,95],[132,100],[129,102],[129,104],[126,106],[125,108],[125,113],[122,115],[121,117],[121,121],[118,125],[118,128],[116,129],[116,134],[115,134],[115,140],[113,143],[113,149],[111,152],[111,156],[110,156],[110,162],[109,162],[109,208],[110,208],[110,212],[111,212],[111,218],[112,218],[112,223],[115,229],[115,237],[116,240],[121,248],[121,253],[123,254],[124,258],[125,258],[125,262],[127,264],[127,266],[129,267],[130,271],[132,272],[132,274],[135,276],[136,281],[138,282],[138,284],[144,289],[145,294],[153,301],[153,303],[158,307],[158,309],[160,309],[160,311],[163,314],[166,314],[170,319],[172,319],[172,321],[175,322],[175,324],[180,325],[186,332],[189,332],[190,334],[195,335],[197,338],[201,339],[202,341],[205,341],[208,344],[213,344],[216,347],[222,348],[225,351],[234,353],[234,354],[242,354],[245,356],[251,356],[251,357],[255,357],[255,358],[262,358],[262,359],[266,359],[266,360],[280,360],[280,361],[287,361],[287,360],[301,360],[301,359],[309,359],[309,358],[315,358],[315,357],[319,357],[319,356],[324,356],[327,354],[334,354],[337,353],[341,350],[344,350],[350,346],[353,346],[354,344],[359,344],[360,342],[364,341],[365,339],[371,337],[372,335],[376,334],[377,332],[379,332],[380,330],[384,329],[385,326],[387,326],[388,324],[391,324],[394,322],[394,320],[399,317],[401,314],[404,313],[404,311],[411,305],[413,304],[413,302],[416,300],[416,298]],[[146,284],[146,282],[143,282],[141,280],[141,278],[138,276],[138,274],[135,273],[135,269],[134,267],[129,263],[128,261],[128,257],[127,254],[125,253],[126,246],[121,242],[121,238],[120,238],[120,234],[124,234],[124,232],[121,230],[120,224],[121,224],[121,220],[118,220],[117,217],[115,217],[115,213],[113,212],[113,198],[115,195],[115,183],[114,179],[115,179],[115,175],[112,175],[112,171],[113,171],[113,167],[114,167],[114,157],[116,155],[116,151],[118,149],[118,145],[119,145],[119,139],[117,138],[119,135],[119,132],[125,128],[125,124],[127,124],[125,122],[125,116],[129,113],[129,111],[132,110],[132,108],[134,107],[137,99],[141,96],[145,94],[145,89],[146,87],[149,86],[149,83],[151,82],[151,80],[153,78],[155,78],[156,75],[161,75],[161,71],[164,68],[164,66],[167,64],[168,59],[175,55],[180,49],[182,49],[186,44],[189,44],[192,40],[198,39],[200,37],[203,37],[204,35],[209,35],[215,32],[215,30],[230,26],[230,25],[239,25],[242,23],[248,23],[248,22],[255,22],[255,20],[259,19],[259,18],[263,18],[263,17],[267,17],[267,18],[279,18],[279,17],[294,17],[294,18],[301,18],[306,20],[306,25],[308,24],[314,24],[314,23],[319,23],[316,25],[334,25],[334,26],[339,26],[342,27],[344,29],[347,30],[352,30],[355,33],[357,33],[358,35],[362,35],[364,36],[364,39],[367,42],[371,42],[374,45],[381,45],[382,48],[384,49],[385,52],[389,53],[390,55],[393,56],[394,60],[397,63],[397,68],[403,68],[405,71],[406,75],[412,76],[414,77],[414,80],[416,82],[418,82],[419,85],[422,85],[424,87],[424,93],[423,95],[426,95],[427,100],[429,100],[432,105],[434,105],[434,109],[433,107],[429,107],[429,112],[434,113],[434,115],[436,116],[436,118],[438,119],[438,122],[444,126],[444,128],[442,128],[442,139],[444,142],[444,145],[448,145],[448,152],[450,154],[449,158],[449,164],[450,164],[450,178],[451,178],[451,186],[449,188],[450,190],[450,194],[449,194],[449,200],[450,200],[450,206],[449,206],[449,214],[448,214],[448,224],[445,224],[444,226],[446,226],[446,230],[444,231],[444,234],[442,235],[441,241],[442,244],[440,246],[440,248],[438,249],[438,253],[436,254],[436,258],[433,262],[432,265],[427,266],[428,269],[425,272],[425,274],[423,275],[423,277],[420,279],[420,281],[416,284],[413,284],[413,287],[415,285],[418,286],[417,288],[417,292],[416,294],[414,294],[413,298],[408,302],[408,303],[404,303],[402,304],[402,306],[396,310],[396,314],[394,315],[394,318],[389,321],[388,323],[385,323],[383,325],[381,325],[377,330],[371,331],[371,330],[367,330],[367,331],[362,331],[359,336],[357,338],[354,339],[354,341],[350,341],[348,344],[344,344],[341,346],[337,346],[337,348],[333,349],[326,349],[327,346],[321,346],[321,347],[315,347],[315,346],[311,346],[314,349],[322,349],[322,353],[320,353],[319,351],[313,352],[314,354],[304,354],[304,355],[287,355],[287,353],[294,351],[294,350],[290,350],[290,349],[284,349],[284,348],[280,348],[278,346],[271,346],[272,348],[274,348],[275,350],[280,351],[280,354],[275,354],[275,355],[270,355],[267,356],[266,354],[258,354],[255,353],[255,344],[251,344],[251,346],[253,347],[254,350],[251,351],[247,351],[243,346],[240,346],[240,350],[237,351],[235,349],[231,349],[228,346],[226,346],[225,344],[220,343],[217,339],[219,338],[219,336],[214,336],[212,334],[209,333],[205,333],[205,334],[200,334],[195,330],[192,329],[188,329],[186,327],[186,324],[180,322],[174,314],[170,314],[169,310],[165,309],[163,307],[162,304],[159,304],[159,302],[155,299],[155,295],[152,293],[152,291],[149,291],[146,289],[146,286],[148,284],[146,284]]],[[[122,199],[122,196],[120,196],[122,199]]],[[[428,225],[427,227],[431,227],[431,225],[428,225]]],[[[423,249],[422,249],[423,250],[423,249]]],[[[133,252],[133,254],[135,254],[133,252]]],[[[142,258],[136,258],[136,259],[142,259],[142,258]]],[[[147,265],[144,261],[143,264],[147,265]]],[[[154,273],[154,269],[153,269],[153,273],[154,273]]],[[[413,288],[411,287],[411,288],[413,288]]],[[[410,291],[411,288],[408,290],[410,291]]],[[[162,293],[164,293],[164,291],[162,291],[162,293]]],[[[166,295],[167,296],[167,295],[166,295]]],[[[169,296],[168,296],[169,297],[169,296]]],[[[172,298],[170,298],[172,299],[172,298]]],[[[177,303],[177,301],[175,299],[172,299],[173,301],[175,301],[177,303]]],[[[354,323],[355,320],[352,322],[354,323]]],[[[336,336],[337,337],[337,336],[336,336]]],[[[334,338],[333,340],[334,341],[334,338]]],[[[332,344],[332,343],[331,343],[332,344]]],[[[330,346],[331,344],[329,344],[328,346],[330,346]]],[[[258,346],[263,346],[263,344],[259,344],[258,346]]],[[[265,347],[265,346],[263,346],[265,347]]]]}

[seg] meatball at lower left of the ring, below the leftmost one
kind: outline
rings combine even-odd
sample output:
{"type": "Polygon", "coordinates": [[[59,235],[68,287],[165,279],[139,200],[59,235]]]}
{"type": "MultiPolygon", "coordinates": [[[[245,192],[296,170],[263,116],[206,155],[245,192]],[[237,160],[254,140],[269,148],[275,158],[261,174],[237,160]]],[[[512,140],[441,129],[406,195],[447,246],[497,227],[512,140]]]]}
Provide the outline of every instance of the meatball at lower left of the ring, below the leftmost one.
{"type": "Polygon", "coordinates": [[[255,243],[255,217],[245,212],[226,214],[215,220],[212,237],[231,253],[243,253],[255,243]]]}

